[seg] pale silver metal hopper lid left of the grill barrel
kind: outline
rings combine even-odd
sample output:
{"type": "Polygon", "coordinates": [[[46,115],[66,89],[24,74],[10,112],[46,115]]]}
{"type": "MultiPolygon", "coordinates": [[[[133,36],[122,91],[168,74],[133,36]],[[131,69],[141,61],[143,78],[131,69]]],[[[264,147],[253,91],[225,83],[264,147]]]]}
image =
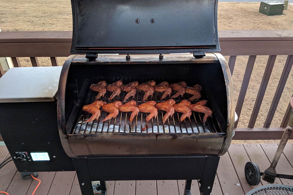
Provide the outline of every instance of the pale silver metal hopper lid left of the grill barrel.
{"type": "Polygon", "coordinates": [[[0,103],[54,101],[61,66],[9,69],[0,78],[0,103]]]}

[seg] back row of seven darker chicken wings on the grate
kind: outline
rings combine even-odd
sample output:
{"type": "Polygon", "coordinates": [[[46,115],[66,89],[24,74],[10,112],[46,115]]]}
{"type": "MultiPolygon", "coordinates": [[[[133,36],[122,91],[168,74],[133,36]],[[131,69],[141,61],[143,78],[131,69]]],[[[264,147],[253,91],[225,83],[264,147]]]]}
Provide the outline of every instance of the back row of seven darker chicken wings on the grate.
{"type": "Polygon", "coordinates": [[[107,84],[106,81],[100,81],[96,84],[92,84],[90,89],[99,92],[95,100],[100,99],[106,94],[106,91],[113,92],[109,97],[111,101],[115,96],[119,96],[121,91],[128,92],[123,99],[123,103],[130,97],[134,97],[137,93],[137,89],[144,92],[144,97],[142,101],[146,101],[149,96],[153,96],[154,92],[163,92],[161,100],[167,96],[171,96],[172,90],[177,93],[171,96],[170,98],[176,98],[178,96],[183,96],[185,93],[192,95],[188,100],[192,101],[195,99],[200,99],[200,91],[202,87],[200,85],[194,85],[193,87],[187,87],[187,84],[184,81],[170,84],[166,81],[161,82],[156,85],[154,80],[138,84],[137,81],[130,82],[128,84],[123,84],[121,80],[118,80],[112,84],[107,84]]]}

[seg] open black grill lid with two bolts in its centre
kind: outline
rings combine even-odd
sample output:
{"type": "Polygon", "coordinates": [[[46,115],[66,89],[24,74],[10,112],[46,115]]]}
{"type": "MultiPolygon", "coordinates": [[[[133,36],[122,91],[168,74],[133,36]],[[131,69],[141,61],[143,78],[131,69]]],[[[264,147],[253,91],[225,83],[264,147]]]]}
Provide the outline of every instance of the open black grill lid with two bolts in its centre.
{"type": "Polygon", "coordinates": [[[220,51],[218,0],[71,0],[71,53],[220,51]]]}

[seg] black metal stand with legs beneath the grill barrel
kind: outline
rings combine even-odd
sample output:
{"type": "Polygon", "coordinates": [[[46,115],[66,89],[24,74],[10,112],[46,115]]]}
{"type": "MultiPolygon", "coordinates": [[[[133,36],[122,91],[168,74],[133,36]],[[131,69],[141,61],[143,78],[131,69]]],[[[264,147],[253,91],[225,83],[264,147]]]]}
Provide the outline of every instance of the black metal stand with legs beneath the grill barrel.
{"type": "Polygon", "coordinates": [[[74,158],[73,162],[82,195],[94,195],[91,181],[100,181],[101,194],[106,195],[106,180],[184,179],[185,195],[191,195],[192,180],[200,180],[200,194],[209,195],[219,159],[218,156],[104,157],[74,158]]]}

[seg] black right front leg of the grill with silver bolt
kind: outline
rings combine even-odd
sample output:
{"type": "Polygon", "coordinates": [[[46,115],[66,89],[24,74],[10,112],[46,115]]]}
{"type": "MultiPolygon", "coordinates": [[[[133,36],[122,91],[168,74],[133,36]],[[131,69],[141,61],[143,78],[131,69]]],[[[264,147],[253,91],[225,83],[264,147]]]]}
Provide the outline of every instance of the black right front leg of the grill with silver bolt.
{"type": "Polygon", "coordinates": [[[220,157],[207,157],[202,179],[200,180],[200,194],[209,195],[212,192],[220,157]]]}

